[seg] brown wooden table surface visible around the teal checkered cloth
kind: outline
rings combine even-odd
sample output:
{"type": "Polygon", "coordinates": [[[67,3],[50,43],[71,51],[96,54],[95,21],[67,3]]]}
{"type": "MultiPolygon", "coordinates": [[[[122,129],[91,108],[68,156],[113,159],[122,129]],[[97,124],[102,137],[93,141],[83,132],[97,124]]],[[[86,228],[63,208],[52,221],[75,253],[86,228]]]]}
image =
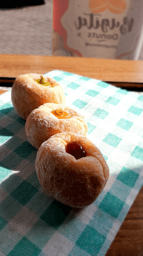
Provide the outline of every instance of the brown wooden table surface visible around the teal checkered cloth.
{"type": "MultiPolygon", "coordinates": [[[[143,61],[38,55],[0,54],[0,85],[11,85],[22,74],[44,74],[54,69],[101,79],[128,90],[143,91],[143,61]]],[[[143,187],[106,256],[143,256],[143,187]]]]}

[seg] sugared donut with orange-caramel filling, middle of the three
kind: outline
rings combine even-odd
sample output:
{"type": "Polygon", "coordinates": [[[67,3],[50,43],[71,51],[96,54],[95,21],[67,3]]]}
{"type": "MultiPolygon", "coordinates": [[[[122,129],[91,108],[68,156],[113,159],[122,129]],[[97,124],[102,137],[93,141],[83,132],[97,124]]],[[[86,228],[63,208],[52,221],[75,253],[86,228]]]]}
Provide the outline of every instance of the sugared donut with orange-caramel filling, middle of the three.
{"type": "Polygon", "coordinates": [[[39,148],[44,141],[61,132],[87,134],[88,124],[74,109],[55,103],[45,103],[28,116],[25,131],[28,141],[39,148]]]}

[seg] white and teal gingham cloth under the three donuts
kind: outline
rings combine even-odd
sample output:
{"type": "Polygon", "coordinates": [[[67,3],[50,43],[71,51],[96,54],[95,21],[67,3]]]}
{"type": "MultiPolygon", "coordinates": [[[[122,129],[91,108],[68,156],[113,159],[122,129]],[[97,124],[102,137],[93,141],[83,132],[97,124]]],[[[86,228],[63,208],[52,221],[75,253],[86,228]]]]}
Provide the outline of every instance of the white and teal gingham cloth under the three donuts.
{"type": "Polygon", "coordinates": [[[66,105],[85,115],[87,137],[109,166],[109,180],[92,205],[63,205],[43,192],[37,150],[25,121],[0,96],[0,256],[104,256],[143,184],[143,95],[53,70],[66,105]]]}

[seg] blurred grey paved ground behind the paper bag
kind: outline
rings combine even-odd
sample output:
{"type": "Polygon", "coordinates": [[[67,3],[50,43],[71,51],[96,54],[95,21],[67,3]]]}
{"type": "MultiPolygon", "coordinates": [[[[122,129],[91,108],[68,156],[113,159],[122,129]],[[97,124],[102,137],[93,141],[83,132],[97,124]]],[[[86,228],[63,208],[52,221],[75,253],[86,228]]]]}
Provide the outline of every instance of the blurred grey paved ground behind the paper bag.
{"type": "Polygon", "coordinates": [[[0,54],[52,55],[53,0],[20,4],[13,1],[0,8],[0,54]]]}

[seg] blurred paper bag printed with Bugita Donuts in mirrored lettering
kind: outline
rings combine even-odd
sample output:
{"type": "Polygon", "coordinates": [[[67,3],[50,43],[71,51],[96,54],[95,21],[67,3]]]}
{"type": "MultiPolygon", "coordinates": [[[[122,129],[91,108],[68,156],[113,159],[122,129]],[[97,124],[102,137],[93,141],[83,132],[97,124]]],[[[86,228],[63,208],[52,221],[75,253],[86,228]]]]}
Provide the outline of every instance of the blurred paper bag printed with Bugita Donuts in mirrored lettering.
{"type": "Polygon", "coordinates": [[[53,0],[53,55],[137,60],[143,0],[53,0]]]}

